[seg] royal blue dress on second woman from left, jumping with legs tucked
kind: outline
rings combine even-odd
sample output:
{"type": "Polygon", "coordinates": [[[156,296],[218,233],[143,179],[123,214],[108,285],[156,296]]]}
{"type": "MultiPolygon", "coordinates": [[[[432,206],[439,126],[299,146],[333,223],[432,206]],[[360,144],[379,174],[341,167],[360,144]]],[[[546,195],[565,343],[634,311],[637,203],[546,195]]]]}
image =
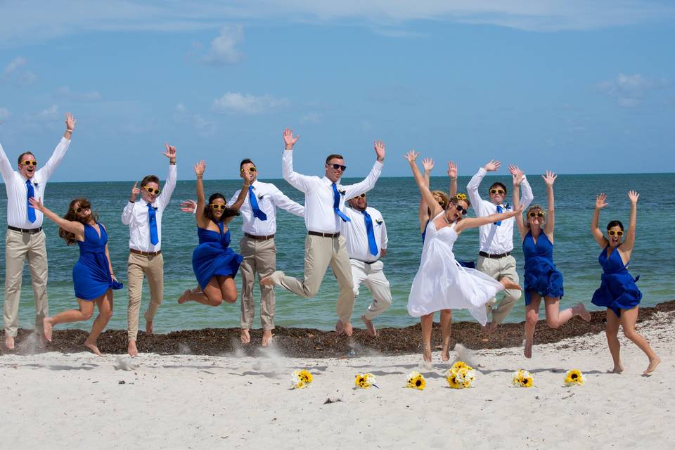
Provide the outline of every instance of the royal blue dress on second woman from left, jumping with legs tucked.
{"type": "Polygon", "coordinates": [[[214,276],[234,278],[243,256],[234,252],[230,245],[230,231],[224,231],[222,222],[214,221],[220,231],[197,228],[199,245],[192,253],[192,269],[202,290],[214,276]]]}

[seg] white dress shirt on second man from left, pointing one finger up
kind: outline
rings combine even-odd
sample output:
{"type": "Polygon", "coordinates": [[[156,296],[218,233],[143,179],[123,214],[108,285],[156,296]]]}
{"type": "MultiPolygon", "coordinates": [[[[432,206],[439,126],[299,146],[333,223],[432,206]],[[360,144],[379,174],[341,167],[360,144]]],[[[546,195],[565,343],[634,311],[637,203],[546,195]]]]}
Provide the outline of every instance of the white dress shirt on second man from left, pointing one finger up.
{"type": "MultiPolygon", "coordinates": [[[[129,225],[129,248],[141,250],[141,252],[159,252],[162,250],[162,213],[164,212],[171,195],[176,187],[178,169],[175,164],[169,165],[169,175],[164,184],[162,193],[155,198],[155,217],[157,218],[157,245],[150,243],[150,216],[148,203],[141,196],[134,203],[127,203],[122,211],[122,224],[129,225]]],[[[141,188],[142,189],[142,188],[141,188]]]]}

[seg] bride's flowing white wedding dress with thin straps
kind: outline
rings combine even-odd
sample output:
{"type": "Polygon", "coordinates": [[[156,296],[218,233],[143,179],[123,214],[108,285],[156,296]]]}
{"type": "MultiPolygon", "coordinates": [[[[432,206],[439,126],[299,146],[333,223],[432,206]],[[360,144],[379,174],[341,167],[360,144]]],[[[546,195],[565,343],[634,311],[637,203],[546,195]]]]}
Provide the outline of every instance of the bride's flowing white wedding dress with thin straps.
{"type": "Polygon", "coordinates": [[[468,309],[485,325],[485,304],[503,290],[503,285],[481,271],[456,262],[452,252],[458,238],[456,222],[437,231],[434,221],[442,214],[427,224],[420,269],[408,297],[408,314],[419,317],[441,309],[468,309]]]}

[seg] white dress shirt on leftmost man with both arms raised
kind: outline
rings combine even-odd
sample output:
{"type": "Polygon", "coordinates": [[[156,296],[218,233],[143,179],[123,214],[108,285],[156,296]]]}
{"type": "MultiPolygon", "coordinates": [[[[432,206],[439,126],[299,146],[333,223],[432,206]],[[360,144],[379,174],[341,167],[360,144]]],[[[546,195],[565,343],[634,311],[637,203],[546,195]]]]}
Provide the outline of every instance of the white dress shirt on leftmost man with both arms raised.
{"type": "MultiPolygon", "coordinates": [[[[44,188],[47,180],[49,180],[54,169],[63,160],[68,146],[70,146],[70,139],[61,138],[49,161],[34,172],[31,183],[35,198],[44,199],[44,188]]],[[[41,227],[43,215],[38,210],[35,210],[35,221],[28,221],[28,187],[26,186],[26,178],[20,172],[12,169],[11,162],[7,159],[2,146],[0,146],[0,172],[2,172],[2,179],[5,181],[5,189],[7,191],[7,224],[22,229],[41,227]]]]}

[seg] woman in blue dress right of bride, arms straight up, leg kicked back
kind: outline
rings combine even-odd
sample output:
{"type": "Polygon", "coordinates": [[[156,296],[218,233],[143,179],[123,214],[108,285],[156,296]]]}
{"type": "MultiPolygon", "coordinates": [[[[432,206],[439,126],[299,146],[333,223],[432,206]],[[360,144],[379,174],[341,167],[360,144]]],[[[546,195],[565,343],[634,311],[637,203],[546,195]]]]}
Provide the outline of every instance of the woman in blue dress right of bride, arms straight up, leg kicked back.
{"type": "MultiPolygon", "coordinates": [[[[513,207],[520,206],[520,183],[522,172],[513,172],[513,207]]],[[[553,264],[553,230],[555,229],[555,200],[553,183],[558,176],[553,172],[543,175],[548,198],[547,211],[540,205],[531,205],[525,214],[515,216],[515,223],[520,231],[522,253],[525,256],[525,280],[522,290],[525,291],[525,350],[526,358],[532,358],[534,328],[539,321],[539,304],[544,299],[546,308],[546,325],[551,328],[563,326],[574,316],[588,322],[591,314],[583,303],[560,311],[560,297],[563,297],[563,274],[553,264]]]]}

